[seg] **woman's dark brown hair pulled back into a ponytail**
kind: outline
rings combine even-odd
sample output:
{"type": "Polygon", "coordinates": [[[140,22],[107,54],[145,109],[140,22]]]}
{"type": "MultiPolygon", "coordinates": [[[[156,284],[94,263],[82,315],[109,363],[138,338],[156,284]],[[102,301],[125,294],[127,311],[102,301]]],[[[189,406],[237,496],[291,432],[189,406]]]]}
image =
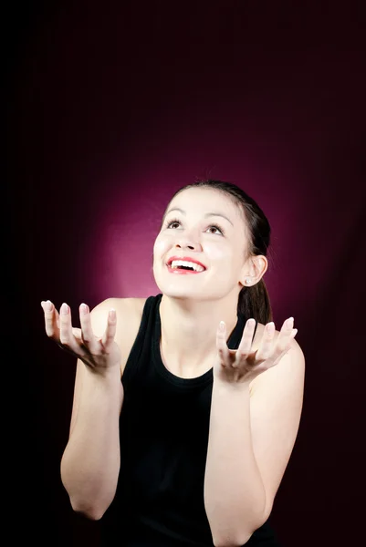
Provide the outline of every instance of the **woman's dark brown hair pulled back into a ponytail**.
{"type": "MultiPolygon", "coordinates": [[[[246,228],[249,237],[248,255],[263,254],[267,256],[271,233],[269,222],[256,201],[248,196],[245,191],[232,182],[206,179],[183,186],[173,194],[171,201],[179,193],[189,188],[208,188],[221,191],[229,196],[244,213],[244,218],[246,219],[246,228]]],[[[168,207],[169,204],[165,212],[168,210],[168,207]]],[[[237,313],[245,315],[247,319],[253,317],[258,323],[262,323],[263,325],[273,320],[267,286],[263,277],[255,285],[249,287],[243,286],[239,293],[237,313]]]]}

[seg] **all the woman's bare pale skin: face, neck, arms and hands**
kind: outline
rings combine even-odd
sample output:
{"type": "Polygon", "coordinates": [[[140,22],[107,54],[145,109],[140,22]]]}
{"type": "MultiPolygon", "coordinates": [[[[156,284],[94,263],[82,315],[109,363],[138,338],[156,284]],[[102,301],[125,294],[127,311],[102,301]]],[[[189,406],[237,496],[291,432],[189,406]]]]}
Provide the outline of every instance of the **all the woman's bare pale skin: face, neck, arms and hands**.
{"type": "MultiPolygon", "coordinates": [[[[293,328],[292,318],[284,322],[280,331],[273,323],[258,324],[253,343],[255,321],[248,320],[238,349],[227,348],[226,340],[237,320],[238,293],[247,278],[251,284],[261,279],[267,271],[267,259],[249,256],[244,260],[245,253],[238,253],[238,249],[246,248],[246,226],[234,204],[225,200],[222,194],[190,189],[174,198],[168,209],[173,208],[182,212],[166,215],[167,224],[162,226],[154,244],[154,276],[163,294],[160,309],[162,360],[180,377],[200,376],[213,367],[204,503],[214,544],[240,545],[267,520],[286,470],[298,432],[305,359],[294,339],[297,330],[293,328]],[[218,216],[205,217],[208,212],[219,212],[226,220],[218,216]],[[173,219],[178,222],[172,223],[173,219]],[[214,227],[219,220],[225,226],[225,235],[214,227]],[[169,274],[166,260],[172,253],[189,255],[204,263],[204,274],[169,274]],[[228,264],[231,264],[230,268],[228,264]],[[222,321],[224,330],[220,329],[222,321]]],[[[72,328],[68,306],[67,315],[58,316],[52,304],[52,309],[47,311],[42,303],[47,335],[78,356],[70,440],[64,457],[65,476],[68,476],[67,490],[75,492],[74,500],[82,500],[87,494],[90,497],[87,485],[91,483],[95,487],[91,493],[100,492],[98,509],[84,508],[84,511],[83,502],[75,502],[82,512],[89,511],[91,518],[100,518],[114,496],[119,470],[117,420],[106,433],[103,417],[100,418],[104,444],[100,442],[94,446],[95,451],[102,451],[106,442],[110,442],[114,449],[112,471],[104,481],[97,484],[90,479],[99,472],[99,466],[105,469],[105,461],[93,460],[85,486],[78,484],[78,488],[75,487],[74,477],[79,473],[77,452],[82,452],[80,446],[90,442],[87,440],[88,428],[91,428],[89,412],[97,412],[101,406],[107,408],[112,394],[117,402],[107,408],[106,414],[116,418],[120,413],[123,401],[120,376],[128,356],[121,355],[120,347],[127,351],[130,347],[123,338],[124,326],[120,325],[125,305],[122,300],[125,299],[113,299],[117,316],[108,317],[107,326],[111,299],[106,305],[100,304],[99,311],[89,313],[87,310],[86,315],[81,314],[80,308],[81,329],[72,328]],[[98,335],[94,334],[92,325],[98,335]],[[82,384],[83,389],[77,384],[82,384]],[[95,408],[90,409],[86,396],[89,393],[96,394],[95,408]],[[80,413],[76,410],[78,407],[84,411],[80,413]],[[81,443],[80,439],[84,441],[81,443]]],[[[137,307],[141,313],[141,303],[137,307]]],[[[136,306],[133,309],[137,309],[136,306]]],[[[138,323],[137,319],[136,325],[138,323]]],[[[134,335],[131,332],[131,339],[134,335]]],[[[95,422],[93,427],[95,434],[95,422]]],[[[89,445],[85,451],[90,453],[89,445]]]]}

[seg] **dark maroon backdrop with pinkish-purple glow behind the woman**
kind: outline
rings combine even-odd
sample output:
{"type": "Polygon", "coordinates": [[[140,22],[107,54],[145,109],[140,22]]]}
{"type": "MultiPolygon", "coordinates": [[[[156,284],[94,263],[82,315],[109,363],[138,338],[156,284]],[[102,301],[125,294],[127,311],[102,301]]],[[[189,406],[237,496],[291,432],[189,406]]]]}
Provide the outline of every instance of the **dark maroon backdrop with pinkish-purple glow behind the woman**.
{"type": "Polygon", "coordinates": [[[363,4],[35,2],[10,15],[13,534],[98,545],[59,479],[75,362],[47,339],[40,301],[67,302],[78,325],[81,302],[156,294],[164,207],[210,176],[267,213],[275,321],[294,315],[307,360],[272,523],[284,547],[363,542],[363,4]]]}

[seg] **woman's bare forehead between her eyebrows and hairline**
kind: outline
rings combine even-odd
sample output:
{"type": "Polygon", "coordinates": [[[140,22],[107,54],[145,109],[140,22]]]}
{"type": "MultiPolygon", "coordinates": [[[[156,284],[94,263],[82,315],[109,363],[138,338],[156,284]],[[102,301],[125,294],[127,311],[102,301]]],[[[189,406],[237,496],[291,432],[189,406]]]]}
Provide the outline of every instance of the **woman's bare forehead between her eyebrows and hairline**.
{"type": "Polygon", "coordinates": [[[178,207],[186,213],[202,214],[204,212],[222,212],[234,222],[240,219],[239,208],[223,191],[211,188],[188,188],[181,191],[170,202],[167,212],[178,207]]]}

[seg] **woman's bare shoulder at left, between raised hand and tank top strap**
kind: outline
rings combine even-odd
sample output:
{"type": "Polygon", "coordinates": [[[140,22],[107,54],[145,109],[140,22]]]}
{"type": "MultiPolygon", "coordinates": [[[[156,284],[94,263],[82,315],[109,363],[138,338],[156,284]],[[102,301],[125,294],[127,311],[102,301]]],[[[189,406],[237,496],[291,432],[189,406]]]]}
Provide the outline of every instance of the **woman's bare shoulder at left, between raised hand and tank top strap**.
{"type": "Polygon", "coordinates": [[[116,342],[120,346],[122,360],[120,376],[130,356],[131,348],[141,325],[143,306],[146,298],[109,298],[110,307],[114,307],[117,314],[116,342]]]}

